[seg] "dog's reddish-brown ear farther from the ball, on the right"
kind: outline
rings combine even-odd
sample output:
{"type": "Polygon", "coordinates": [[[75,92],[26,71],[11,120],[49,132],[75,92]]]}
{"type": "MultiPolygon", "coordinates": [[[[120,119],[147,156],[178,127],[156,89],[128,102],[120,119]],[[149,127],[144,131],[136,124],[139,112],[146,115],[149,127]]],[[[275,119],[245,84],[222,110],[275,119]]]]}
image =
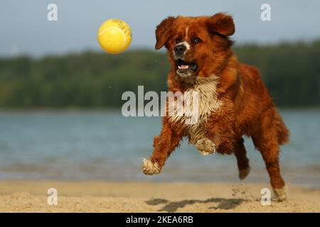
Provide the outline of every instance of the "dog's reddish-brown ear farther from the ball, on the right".
{"type": "Polygon", "coordinates": [[[219,33],[225,36],[230,36],[235,33],[233,18],[225,13],[216,13],[209,17],[206,24],[209,33],[219,33]]]}

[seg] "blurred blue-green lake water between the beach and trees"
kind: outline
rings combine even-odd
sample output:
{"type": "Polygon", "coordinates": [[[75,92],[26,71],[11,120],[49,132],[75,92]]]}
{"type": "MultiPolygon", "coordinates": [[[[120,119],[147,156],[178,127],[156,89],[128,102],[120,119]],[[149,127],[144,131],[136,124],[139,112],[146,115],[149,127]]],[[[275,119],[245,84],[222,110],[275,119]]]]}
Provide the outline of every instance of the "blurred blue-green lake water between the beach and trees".
{"type": "MultiPolygon", "coordinates": [[[[320,110],[282,110],[292,133],[282,146],[287,182],[320,186],[320,110]]],[[[0,113],[0,179],[112,181],[238,181],[233,155],[202,156],[183,141],[160,175],[142,173],[152,152],[160,118],[125,118],[117,111],[0,113]]],[[[265,164],[251,140],[250,182],[269,182],[265,164]]]]}

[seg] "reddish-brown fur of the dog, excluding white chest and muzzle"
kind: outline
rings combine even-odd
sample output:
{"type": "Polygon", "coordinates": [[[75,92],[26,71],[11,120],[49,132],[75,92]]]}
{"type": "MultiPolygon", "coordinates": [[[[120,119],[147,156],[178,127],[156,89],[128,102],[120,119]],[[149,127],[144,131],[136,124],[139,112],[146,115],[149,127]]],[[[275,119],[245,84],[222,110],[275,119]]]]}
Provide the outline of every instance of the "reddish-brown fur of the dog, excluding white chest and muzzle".
{"type": "MultiPolygon", "coordinates": [[[[279,145],[287,142],[289,131],[262,82],[259,70],[241,64],[233,53],[228,35],[233,35],[234,31],[233,19],[223,13],[212,17],[169,17],[156,28],[156,49],[164,45],[168,49],[171,62],[168,85],[172,92],[185,91],[196,77],[218,76],[217,93],[223,106],[210,115],[206,124],[207,138],[215,143],[218,153],[235,153],[239,170],[245,170],[249,167],[249,160],[242,136],[250,136],[262,153],[272,187],[279,189],[284,187],[279,172],[279,145]],[[188,36],[184,34],[187,26],[188,36]],[[172,50],[177,35],[188,43],[191,43],[192,35],[202,40],[186,55],[188,60],[196,60],[199,68],[190,78],[176,74],[172,50]]],[[[169,123],[165,116],[161,134],[154,138],[154,153],[150,160],[163,167],[184,135],[183,126],[169,123]]]]}

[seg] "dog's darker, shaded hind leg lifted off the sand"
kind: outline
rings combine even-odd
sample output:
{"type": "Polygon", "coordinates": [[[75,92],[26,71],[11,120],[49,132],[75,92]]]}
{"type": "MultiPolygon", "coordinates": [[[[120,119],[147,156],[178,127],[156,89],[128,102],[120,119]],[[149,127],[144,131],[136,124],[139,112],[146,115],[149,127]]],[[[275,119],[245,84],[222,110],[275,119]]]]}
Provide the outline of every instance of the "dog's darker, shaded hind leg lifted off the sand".
{"type": "Polygon", "coordinates": [[[237,157],[239,179],[245,179],[250,173],[249,160],[247,159],[247,151],[243,144],[243,139],[239,138],[235,145],[235,157],[237,157]]]}

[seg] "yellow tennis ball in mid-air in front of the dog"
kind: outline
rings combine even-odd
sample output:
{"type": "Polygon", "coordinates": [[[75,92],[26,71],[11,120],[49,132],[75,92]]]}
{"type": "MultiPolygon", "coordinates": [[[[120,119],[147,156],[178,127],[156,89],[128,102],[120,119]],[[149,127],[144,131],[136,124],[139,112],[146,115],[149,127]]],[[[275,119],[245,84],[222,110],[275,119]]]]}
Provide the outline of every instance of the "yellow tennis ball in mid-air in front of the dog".
{"type": "Polygon", "coordinates": [[[102,23],[97,39],[103,50],[118,54],[126,50],[132,39],[129,25],[119,19],[110,19],[102,23]]]}

